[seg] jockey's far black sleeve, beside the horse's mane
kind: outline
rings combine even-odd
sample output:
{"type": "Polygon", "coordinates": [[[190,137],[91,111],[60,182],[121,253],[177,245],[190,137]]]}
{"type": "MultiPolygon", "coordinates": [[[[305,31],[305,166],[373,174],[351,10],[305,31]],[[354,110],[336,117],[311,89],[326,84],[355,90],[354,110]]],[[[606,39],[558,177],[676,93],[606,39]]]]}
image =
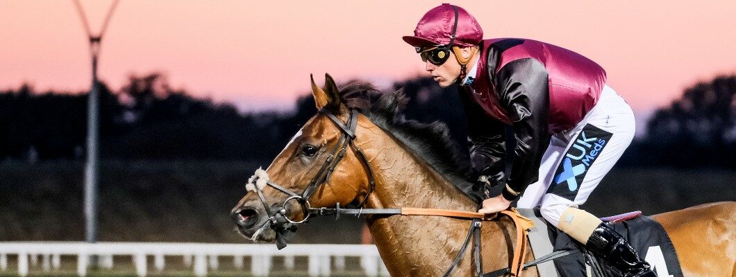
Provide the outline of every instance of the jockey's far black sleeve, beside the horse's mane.
{"type": "MultiPolygon", "coordinates": [[[[467,89],[467,88],[466,88],[467,89]]],[[[486,176],[490,186],[504,184],[506,162],[506,125],[486,115],[478,104],[470,99],[470,91],[461,93],[467,118],[467,143],[470,148],[470,164],[473,167],[473,181],[476,190],[484,193],[484,187],[477,181],[486,176]]]]}

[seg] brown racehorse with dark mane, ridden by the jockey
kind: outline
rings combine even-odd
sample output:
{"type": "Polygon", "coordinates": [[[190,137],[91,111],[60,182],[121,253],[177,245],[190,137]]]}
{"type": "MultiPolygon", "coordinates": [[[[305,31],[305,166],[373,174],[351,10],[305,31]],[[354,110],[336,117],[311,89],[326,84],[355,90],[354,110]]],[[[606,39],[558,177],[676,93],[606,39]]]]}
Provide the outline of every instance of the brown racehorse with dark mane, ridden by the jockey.
{"type": "MultiPolygon", "coordinates": [[[[467,181],[467,164],[456,156],[447,126],[403,119],[400,111],[407,103],[403,93],[382,93],[362,82],[339,89],[329,74],[324,88],[314,78],[311,87],[321,112],[261,170],[263,181],[255,181],[258,189],[249,188],[257,193],[244,195],[231,212],[244,237],[273,242],[278,237],[273,228],[280,222],[277,215],[301,223],[308,217],[305,209],[340,204],[365,209],[478,209],[478,201],[461,189],[473,184],[467,181]],[[353,134],[346,134],[351,127],[353,134]],[[272,185],[266,186],[266,181],[272,185]]],[[[651,217],[667,231],[685,276],[736,276],[736,202],[651,217]]],[[[391,276],[442,276],[458,257],[470,227],[467,219],[442,216],[367,215],[366,221],[391,276]]],[[[509,267],[518,246],[514,223],[497,217],[481,225],[482,267],[509,267]]],[[[533,258],[526,253],[523,261],[533,258]]],[[[453,276],[473,276],[473,263],[478,262],[473,259],[478,258],[462,256],[453,276]]],[[[536,267],[522,273],[538,276],[536,267]]]]}

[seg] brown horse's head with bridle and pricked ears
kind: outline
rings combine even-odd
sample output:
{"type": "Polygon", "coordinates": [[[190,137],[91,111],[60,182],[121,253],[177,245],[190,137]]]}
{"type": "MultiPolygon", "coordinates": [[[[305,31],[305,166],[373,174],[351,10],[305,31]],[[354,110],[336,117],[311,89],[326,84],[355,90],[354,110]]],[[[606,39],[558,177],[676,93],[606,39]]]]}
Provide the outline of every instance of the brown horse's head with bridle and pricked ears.
{"type": "Polygon", "coordinates": [[[358,121],[329,76],[324,90],[311,81],[317,112],[302,126],[266,170],[257,170],[248,193],[233,208],[238,230],[255,241],[270,242],[277,233],[305,220],[309,209],[361,205],[372,190],[367,159],[353,144],[358,121]]]}

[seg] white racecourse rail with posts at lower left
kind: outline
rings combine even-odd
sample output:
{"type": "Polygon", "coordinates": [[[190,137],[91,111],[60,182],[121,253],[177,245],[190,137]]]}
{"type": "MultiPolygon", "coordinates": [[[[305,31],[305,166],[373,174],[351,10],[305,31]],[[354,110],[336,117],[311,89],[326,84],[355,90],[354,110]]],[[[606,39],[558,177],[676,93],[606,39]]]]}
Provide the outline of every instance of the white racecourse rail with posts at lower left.
{"type": "Polygon", "coordinates": [[[184,264],[193,267],[195,276],[206,276],[208,270],[216,270],[221,256],[232,256],[233,266],[238,270],[244,268],[243,258],[250,256],[250,273],[253,276],[267,276],[274,256],[283,256],[286,269],[294,268],[295,256],[306,256],[309,276],[330,276],[333,267],[335,270],[344,269],[346,256],[355,256],[360,259],[360,266],[367,276],[389,276],[375,245],[289,245],[277,250],[275,245],[256,244],[0,242],[0,270],[7,270],[8,256],[13,255],[17,256],[20,276],[28,276],[29,264],[37,265],[39,257],[43,271],[59,269],[62,255],[77,256],[79,276],[87,274],[91,255],[99,256],[99,264],[108,269],[113,267],[113,256],[131,256],[138,276],[146,276],[148,256],[153,256],[153,267],[159,271],[166,266],[165,256],[182,256],[184,264]]]}

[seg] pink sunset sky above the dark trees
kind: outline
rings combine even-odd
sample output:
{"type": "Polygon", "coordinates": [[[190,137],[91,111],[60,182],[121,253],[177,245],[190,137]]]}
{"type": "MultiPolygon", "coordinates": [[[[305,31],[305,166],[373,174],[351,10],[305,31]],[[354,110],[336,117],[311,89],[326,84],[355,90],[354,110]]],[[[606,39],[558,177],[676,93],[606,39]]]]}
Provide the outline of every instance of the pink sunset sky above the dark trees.
{"type": "MultiPolygon", "coordinates": [[[[112,1],[82,0],[92,29],[112,1]]],[[[242,110],[289,109],[309,73],[381,86],[425,75],[401,36],[441,1],[121,0],[99,76],[166,73],[174,87],[242,110]]],[[[453,1],[486,38],[526,37],[606,68],[640,115],[685,87],[736,72],[736,1],[453,1]]],[[[88,44],[71,0],[0,0],[0,89],[85,90],[88,44]]]]}

